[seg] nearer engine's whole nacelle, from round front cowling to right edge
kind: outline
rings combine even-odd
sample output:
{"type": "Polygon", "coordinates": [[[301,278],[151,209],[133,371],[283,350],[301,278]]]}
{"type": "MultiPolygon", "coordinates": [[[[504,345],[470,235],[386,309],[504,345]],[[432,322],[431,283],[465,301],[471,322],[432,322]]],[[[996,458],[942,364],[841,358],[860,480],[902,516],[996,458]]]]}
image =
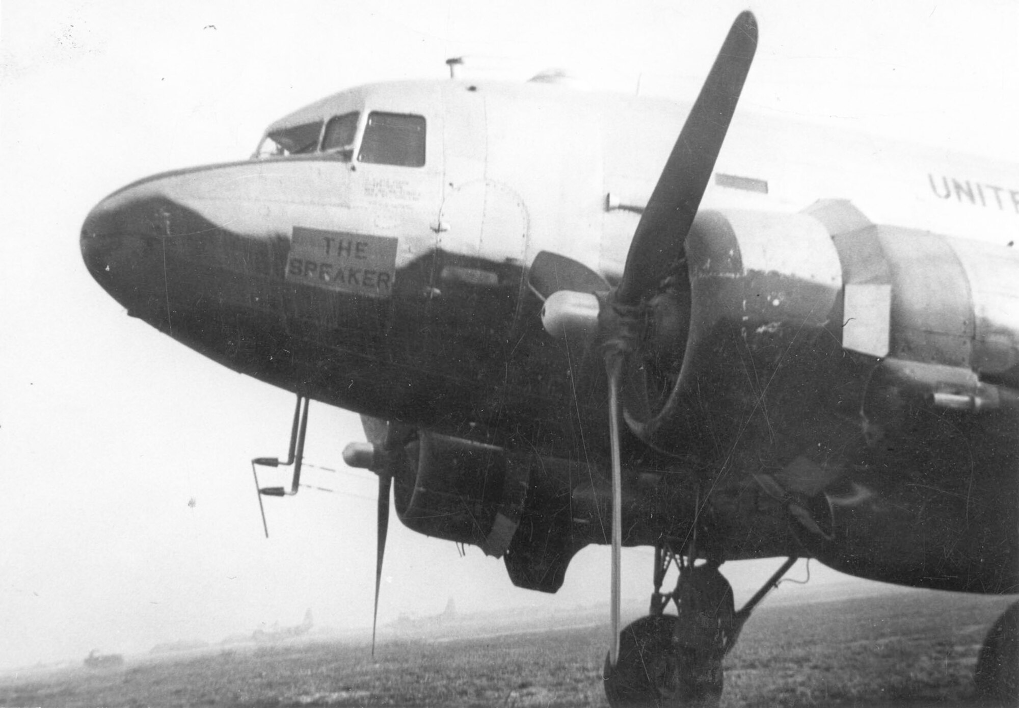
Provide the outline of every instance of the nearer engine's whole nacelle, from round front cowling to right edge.
{"type": "MultiPolygon", "coordinates": [[[[808,362],[835,344],[864,366],[892,358],[1019,385],[1012,249],[873,224],[849,202],[826,200],[796,214],[700,212],[681,265],[685,273],[665,293],[681,306],[654,310],[687,323],[685,337],[664,338],[675,365],[657,381],[647,374],[655,367],[645,366],[647,391],[638,387],[627,407],[633,431],[662,449],[696,438],[695,399],[711,372],[739,371],[726,358],[734,347],[755,357],[761,381],[780,363],[808,362]]],[[[952,396],[965,394],[971,408],[986,398],[949,393],[931,390],[957,407],[965,402],[952,396]]]]}

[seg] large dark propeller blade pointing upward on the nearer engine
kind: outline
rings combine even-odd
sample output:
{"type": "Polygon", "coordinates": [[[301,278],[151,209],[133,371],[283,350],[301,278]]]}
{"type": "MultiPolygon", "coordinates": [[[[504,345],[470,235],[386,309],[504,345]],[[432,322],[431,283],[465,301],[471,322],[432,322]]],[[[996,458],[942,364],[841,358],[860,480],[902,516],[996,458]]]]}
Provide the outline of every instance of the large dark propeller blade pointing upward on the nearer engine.
{"type": "Polygon", "coordinates": [[[640,304],[682,254],[756,49],[757,20],[747,10],[733,22],[637,224],[618,303],[640,304]]]}

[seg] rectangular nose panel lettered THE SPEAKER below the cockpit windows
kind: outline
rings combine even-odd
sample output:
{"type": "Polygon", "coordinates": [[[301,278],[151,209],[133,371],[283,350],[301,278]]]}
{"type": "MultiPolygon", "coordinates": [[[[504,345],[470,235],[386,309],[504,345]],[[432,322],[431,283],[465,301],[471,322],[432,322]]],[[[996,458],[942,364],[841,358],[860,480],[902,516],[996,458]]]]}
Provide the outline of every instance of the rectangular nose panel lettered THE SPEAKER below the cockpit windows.
{"type": "Polygon", "coordinates": [[[293,227],[286,261],[290,283],[388,298],[396,279],[398,239],[293,227]]]}

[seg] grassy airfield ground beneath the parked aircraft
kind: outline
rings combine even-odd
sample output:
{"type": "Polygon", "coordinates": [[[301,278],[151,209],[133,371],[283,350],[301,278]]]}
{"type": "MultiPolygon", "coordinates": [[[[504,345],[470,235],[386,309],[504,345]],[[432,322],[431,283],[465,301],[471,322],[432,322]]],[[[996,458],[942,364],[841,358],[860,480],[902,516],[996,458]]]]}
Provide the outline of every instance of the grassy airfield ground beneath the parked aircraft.
{"type": "MultiPolygon", "coordinates": [[[[722,706],[963,706],[1010,603],[938,593],[765,603],[727,659],[722,706]]],[[[576,621],[576,620],[575,620],[576,621]]],[[[535,623],[530,624],[535,627],[535,623]]],[[[605,706],[602,625],[308,640],[0,678],[0,706],[605,706]]]]}

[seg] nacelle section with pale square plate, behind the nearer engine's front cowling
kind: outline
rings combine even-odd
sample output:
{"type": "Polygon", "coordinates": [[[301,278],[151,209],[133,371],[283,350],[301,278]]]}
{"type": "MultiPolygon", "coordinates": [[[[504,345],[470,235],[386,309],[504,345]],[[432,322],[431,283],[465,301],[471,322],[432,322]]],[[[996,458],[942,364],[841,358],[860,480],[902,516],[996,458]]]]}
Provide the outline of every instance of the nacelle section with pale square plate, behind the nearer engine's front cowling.
{"type": "Polygon", "coordinates": [[[846,349],[1019,386],[1019,253],[871,224],[846,202],[809,211],[827,226],[842,261],[846,349]]]}

